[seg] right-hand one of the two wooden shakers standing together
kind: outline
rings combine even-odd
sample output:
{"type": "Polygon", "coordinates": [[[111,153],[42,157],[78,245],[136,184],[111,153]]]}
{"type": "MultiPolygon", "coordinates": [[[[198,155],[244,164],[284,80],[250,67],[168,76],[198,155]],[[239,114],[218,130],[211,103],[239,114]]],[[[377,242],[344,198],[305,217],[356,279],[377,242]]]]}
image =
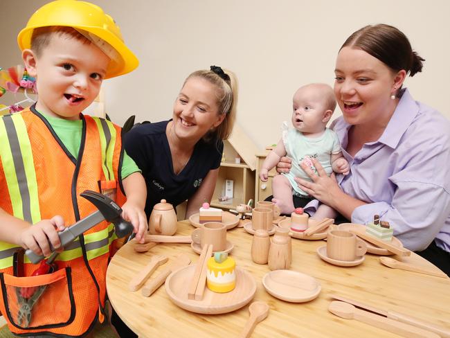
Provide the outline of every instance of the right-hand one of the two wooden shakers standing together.
{"type": "Polygon", "coordinates": [[[280,270],[289,269],[291,267],[291,247],[289,246],[289,230],[286,235],[285,231],[277,229],[273,235],[269,249],[269,269],[280,270]]]}

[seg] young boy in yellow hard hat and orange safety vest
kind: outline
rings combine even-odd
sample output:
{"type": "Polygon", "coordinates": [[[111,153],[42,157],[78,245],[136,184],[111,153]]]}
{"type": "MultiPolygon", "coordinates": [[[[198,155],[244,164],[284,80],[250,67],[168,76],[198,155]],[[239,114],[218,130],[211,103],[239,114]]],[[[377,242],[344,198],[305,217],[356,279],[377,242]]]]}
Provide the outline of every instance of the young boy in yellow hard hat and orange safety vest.
{"type": "Polygon", "coordinates": [[[103,321],[114,240],[104,221],[61,251],[57,230],[96,211],[80,193],[100,191],[120,205],[125,193],[122,216],[136,240],[147,229],[145,181],[122,151],[120,127],[80,113],[103,79],[132,71],[138,60],[113,19],[84,1],[47,3],[18,42],[38,98],[0,119],[0,310],[17,335],[78,337],[103,321]],[[60,249],[50,270],[20,250],[48,256],[49,244],[60,249]]]}

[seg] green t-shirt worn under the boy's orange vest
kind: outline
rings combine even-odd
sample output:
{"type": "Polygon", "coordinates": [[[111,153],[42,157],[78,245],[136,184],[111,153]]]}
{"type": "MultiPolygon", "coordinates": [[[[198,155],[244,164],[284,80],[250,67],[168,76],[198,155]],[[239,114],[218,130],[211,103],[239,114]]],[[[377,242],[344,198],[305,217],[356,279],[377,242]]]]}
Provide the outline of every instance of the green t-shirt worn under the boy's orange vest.
{"type": "MultiPolygon", "coordinates": [[[[41,112],[39,112],[42,114],[41,112]]],[[[50,123],[55,133],[60,138],[62,143],[66,146],[67,150],[75,157],[78,158],[78,152],[80,152],[82,124],[81,120],[65,120],[64,118],[58,118],[55,116],[48,116],[42,114],[44,118],[50,123]]],[[[133,172],[141,172],[133,159],[127,155],[125,150],[123,151],[122,162],[122,179],[132,175],[133,172]]]]}

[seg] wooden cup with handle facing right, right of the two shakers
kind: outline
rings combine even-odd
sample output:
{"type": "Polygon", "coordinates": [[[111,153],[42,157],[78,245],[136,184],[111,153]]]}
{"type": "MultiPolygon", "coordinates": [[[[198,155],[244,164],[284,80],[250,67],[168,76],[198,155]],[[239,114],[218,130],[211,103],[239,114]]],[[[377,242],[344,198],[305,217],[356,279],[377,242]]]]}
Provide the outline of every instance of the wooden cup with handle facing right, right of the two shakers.
{"type": "Polygon", "coordinates": [[[341,230],[333,230],[327,237],[327,256],[334,260],[352,262],[366,253],[367,247],[363,240],[357,238],[354,233],[341,230]]]}

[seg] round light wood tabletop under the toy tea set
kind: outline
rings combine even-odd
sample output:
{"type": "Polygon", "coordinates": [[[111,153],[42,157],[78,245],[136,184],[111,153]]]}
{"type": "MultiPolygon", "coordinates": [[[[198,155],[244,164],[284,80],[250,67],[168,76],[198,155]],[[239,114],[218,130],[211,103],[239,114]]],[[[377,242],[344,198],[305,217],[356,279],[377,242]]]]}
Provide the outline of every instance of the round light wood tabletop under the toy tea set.
{"type": "MultiPolygon", "coordinates": [[[[195,228],[188,221],[179,222],[176,235],[190,235],[195,228]]],[[[252,235],[242,228],[228,230],[227,240],[234,244],[231,256],[236,265],[247,269],[257,282],[253,301],[267,301],[269,317],[258,324],[252,337],[398,337],[352,319],[341,319],[328,312],[332,299],[339,294],[377,308],[408,314],[450,330],[450,279],[415,272],[390,269],[379,263],[379,256],[366,255],[357,267],[336,267],[316,254],[323,240],[292,239],[291,270],[313,276],[321,283],[322,292],[308,303],[287,303],[268,294],[262,286],[267,265],[251,260],[252,235]]],[[[189,244],[158,244],[147,253],[134,251],[134,240],[125,244],[112,258],[107,271],[107,292],[120,318],[139,337],[236,337],[249,319],[249,305],[228,314],[196,314],[174,305],[164,285],[152,296],[138,290],[128,291],[128,283],[150,257],[165,255],[169,263],[179,253],[188,253],[196,263],[199,255],[189,244]]],[[[424,267],[433,265],[412,253],[410,257],[392,256],[424,267]]],[[[169,264],[167,263],[167,264],[169,264]]],[[[163,271],[159,267],[154,276],[163,271]]],[[[437,269],[434,267],[434,269],[437,269]]]]}

